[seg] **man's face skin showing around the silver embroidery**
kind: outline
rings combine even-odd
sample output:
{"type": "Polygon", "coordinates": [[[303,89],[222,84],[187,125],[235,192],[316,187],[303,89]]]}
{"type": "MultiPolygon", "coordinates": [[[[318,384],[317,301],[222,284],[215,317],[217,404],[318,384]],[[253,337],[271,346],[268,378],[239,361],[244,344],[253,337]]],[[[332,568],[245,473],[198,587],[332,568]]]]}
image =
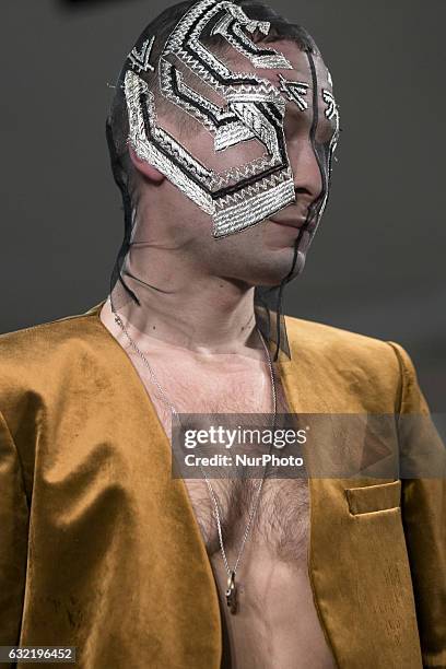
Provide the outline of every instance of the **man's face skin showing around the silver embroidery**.
{"type": "MultiPolygon", "coordinates": [[[[281,51],[293,69],[254,68],[239,55],[228,64],[235,71],[268,79],[286,101],[283,130],[294,177],[295,202],[251,227],[214,238],[211,218],[173,185],[166,184],[173,214],[168,235],[203,270],[251,285],[277,285],[285,277],[295,277],[303,270],[318,225],[318,210],[327,195],[328,150],[338,125],[332,105],[330,114],[332,87],[322,59],[313,56],[312,71],[308,55],[295,44],[278,42],[268,46],[281,51]]],[[[168,130],[168,121],[163,125],[168,130]]],[[[258,140],[243,141],[215,152],[213,138],[202,126],[192,121],[190,128],[191,131],[185,131],[188,150],[218,172],[249,163],[265,153],[265,145],[258,140]]]]}

